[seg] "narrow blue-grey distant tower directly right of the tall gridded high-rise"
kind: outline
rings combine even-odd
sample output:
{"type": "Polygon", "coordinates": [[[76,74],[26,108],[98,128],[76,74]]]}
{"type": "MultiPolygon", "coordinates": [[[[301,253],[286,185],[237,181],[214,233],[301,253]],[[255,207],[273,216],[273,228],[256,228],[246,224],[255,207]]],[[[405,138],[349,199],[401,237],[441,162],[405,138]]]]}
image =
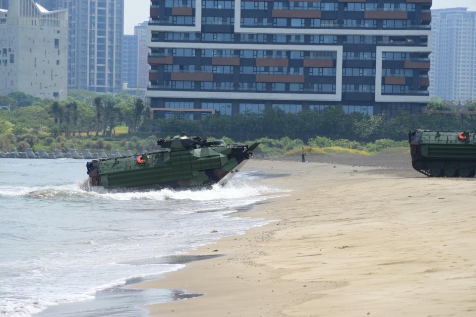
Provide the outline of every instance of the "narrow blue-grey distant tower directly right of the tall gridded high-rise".
{"type": "Polygon", "coordinates": [[[124,35],[122,45],[122,82],[124,88],[137,88],[139,39],[137,35],[124,35]]]}

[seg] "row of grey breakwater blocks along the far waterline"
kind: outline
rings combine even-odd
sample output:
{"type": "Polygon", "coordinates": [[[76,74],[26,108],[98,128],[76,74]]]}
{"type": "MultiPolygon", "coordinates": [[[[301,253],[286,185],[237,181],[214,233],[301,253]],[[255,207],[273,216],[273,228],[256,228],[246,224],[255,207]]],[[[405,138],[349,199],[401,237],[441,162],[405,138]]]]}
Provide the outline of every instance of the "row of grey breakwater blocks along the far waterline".
{"type": "Polygon", "coordinates": [[[62,152],[60,149],[55,149],[52,153],[48,153],[45,149],[42,149],[39,152],[35,152],[31,148],[26,148],[24,152],[19,152],[17,151],[15,147],[13,147],[9,152],[0,151],[0,158],[22,158],[22,159],[71,158],[71,159],[77,159],[77,160],[93,160],[98,158],[116,158],[116,157],[131,156],[131,155],[134,155],[134,153],[132,153],[131,150],[127,150],[125,152],[125,155],[122,155],[119,152],[119,150],[114,150],[112,153],[107,154],[103,149],[100,149],[99,152],[91,153],[91,151],[87,148],[83,149],[81,152],[76,151],[76,149],[74,148],[68,149],[67,152],[62,152]]]}

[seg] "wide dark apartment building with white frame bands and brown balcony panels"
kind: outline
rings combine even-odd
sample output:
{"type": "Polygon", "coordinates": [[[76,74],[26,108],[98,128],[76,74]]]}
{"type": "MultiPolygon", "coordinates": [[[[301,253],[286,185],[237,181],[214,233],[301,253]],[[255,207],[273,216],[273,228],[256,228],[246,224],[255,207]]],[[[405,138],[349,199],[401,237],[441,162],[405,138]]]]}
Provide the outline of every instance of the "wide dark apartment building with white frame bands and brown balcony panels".
{"type": "Polygon", "coordinates": [[[430,100],[430,7],[431,0],[152,0],[152,111],[199,118],[197,109],[232,115],[339,105],[348,113],[418,113],[430,100]]]}

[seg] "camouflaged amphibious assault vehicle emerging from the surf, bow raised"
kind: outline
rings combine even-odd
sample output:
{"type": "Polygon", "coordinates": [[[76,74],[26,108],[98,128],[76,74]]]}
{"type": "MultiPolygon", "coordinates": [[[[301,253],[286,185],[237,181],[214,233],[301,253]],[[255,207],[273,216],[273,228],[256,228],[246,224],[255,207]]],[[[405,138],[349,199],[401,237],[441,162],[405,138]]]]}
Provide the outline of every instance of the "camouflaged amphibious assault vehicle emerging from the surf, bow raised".
{"type": "Polygon", "coordinates": [[[129,188],[225,183],[251,157],[259,142],[248,147],[180,135],[169,140],[159,139],[157,144],[160,149],[155,152],[88,162],[91,184],[129,188]]]}

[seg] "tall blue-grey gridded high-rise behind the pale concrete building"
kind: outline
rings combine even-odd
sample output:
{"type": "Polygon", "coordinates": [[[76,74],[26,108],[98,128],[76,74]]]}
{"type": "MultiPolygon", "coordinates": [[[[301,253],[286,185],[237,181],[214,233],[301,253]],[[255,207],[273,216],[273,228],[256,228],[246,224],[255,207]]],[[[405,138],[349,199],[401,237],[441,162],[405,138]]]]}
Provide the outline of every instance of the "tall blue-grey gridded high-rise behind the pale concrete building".
{"type": "Polygon", "coordinates": [[[122,88],[124,0],[39,0],[68,9],[68,87],[97,92],[122,88]]]}

